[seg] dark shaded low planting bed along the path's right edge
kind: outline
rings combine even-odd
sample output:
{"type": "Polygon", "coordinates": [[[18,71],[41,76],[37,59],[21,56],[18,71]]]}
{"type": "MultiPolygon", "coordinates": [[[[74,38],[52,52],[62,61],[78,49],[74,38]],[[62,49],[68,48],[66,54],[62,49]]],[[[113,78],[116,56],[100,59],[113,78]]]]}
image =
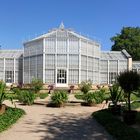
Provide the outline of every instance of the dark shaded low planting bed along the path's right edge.
{"type": "Polygon", "coordinates": [[[118,120],[108,110],[100,110],[92,114],[104,128],[117,140],[140,140],[140,133],[134,128],[118,120]]]}

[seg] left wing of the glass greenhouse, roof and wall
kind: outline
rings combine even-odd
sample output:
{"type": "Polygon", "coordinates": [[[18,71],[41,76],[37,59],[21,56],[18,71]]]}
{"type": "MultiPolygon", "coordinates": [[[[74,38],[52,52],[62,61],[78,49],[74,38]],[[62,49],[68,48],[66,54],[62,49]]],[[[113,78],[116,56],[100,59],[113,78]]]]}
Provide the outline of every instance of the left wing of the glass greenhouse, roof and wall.
{"type": "Polygon", "coordinates": [[[0,50],[0,80],[6,83],[22,83],[22,70],[22,50],[0,50]]]}

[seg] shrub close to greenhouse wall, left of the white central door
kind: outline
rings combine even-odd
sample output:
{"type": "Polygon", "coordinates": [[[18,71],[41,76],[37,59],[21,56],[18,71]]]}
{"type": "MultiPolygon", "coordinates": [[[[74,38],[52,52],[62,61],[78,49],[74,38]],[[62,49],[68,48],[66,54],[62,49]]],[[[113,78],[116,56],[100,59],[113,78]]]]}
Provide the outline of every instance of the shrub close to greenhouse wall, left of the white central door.
{"type": "Polygon", "coordinates": [[[31,82],[31,89],[35,92],[38,93],[43,87],[43,82],[40,79],[33,79],[31,82]]]}

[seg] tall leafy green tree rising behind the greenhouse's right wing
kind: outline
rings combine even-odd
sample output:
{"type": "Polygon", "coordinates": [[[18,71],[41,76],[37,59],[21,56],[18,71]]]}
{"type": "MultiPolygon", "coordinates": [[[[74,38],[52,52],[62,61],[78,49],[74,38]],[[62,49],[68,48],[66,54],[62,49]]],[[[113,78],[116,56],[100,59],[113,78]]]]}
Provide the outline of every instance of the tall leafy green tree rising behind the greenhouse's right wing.
{"type": "Polygon", "coordinates": [[[140,27],[123,27],[120,34],[111,38],[112,51],[125,49],[133,58],[140,60],[140,27]]]}

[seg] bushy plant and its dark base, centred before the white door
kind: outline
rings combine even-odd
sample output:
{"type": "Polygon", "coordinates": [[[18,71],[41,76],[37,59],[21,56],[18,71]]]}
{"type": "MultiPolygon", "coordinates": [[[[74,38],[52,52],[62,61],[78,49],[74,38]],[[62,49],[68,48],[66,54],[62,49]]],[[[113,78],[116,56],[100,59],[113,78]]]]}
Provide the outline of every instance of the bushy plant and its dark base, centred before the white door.
{"type": "Polygon", "coordinates": [[[56,90],[51,96],[51,103],[48,106],[51,107],[63,107],[68,100],[68,94],[63,90],[56,90]]]}

